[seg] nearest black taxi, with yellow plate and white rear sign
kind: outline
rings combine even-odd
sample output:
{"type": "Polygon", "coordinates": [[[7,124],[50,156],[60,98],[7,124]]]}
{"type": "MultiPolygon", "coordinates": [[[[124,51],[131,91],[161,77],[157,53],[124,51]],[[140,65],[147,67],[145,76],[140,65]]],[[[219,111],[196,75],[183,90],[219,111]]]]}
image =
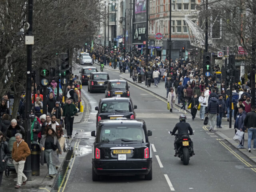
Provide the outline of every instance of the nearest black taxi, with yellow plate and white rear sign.
{"type": "Polygon", "coordinates": [[[103,120],[92,146],[92,180],[101,175],[145,175],[152,180],[152,146],[144,120],[103,120]]]}

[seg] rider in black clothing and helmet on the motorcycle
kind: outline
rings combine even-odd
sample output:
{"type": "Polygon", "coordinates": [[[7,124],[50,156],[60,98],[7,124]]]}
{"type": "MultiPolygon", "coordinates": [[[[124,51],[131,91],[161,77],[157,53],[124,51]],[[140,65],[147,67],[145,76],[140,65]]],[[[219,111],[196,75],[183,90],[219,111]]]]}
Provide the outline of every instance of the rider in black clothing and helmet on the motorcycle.
{"type": "MultiPolygon", "coordinates": [[[[175,132],[178,130],[178,138],[174,141],[174,148],[175,148],[175,157],[178,155],[178,148],[179,148],[179,142],[182,139],[182,135],[184,134],[193,134],[193,130],[189,123],[186,123],[186,115],[180,115],[180,122],[175,125],[175,127],[172,130],[172,135],[175,134],[175,132]]],[[[188,135],[186,135],[188,136],[188,135]]],[[[194,154],[194,148],[193,148],[193,142],[191,141],[191,152],[194,154]]]]}

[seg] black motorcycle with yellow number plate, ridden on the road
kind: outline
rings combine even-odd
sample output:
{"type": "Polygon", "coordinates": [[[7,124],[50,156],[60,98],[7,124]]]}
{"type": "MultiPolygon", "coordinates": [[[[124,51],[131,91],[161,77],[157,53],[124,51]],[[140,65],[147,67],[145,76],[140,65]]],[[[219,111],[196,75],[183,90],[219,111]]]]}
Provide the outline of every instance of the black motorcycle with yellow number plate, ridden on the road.
{"type": "MultiPolygon", "coordinates": [[[[169,131],[169,133],[172,134],[171,131],[169,131]]],[[[178,134],[174,134],[174,136],[174,142],[176,142],[176,140],[178,139],[178,134]]],[[[190,157],[192,157],[194,154],[194,152],[192,152],[191,139],[188,133],[182,134],[181,138],[179,139],[180,140],[178,142],[179,147],[177,156],[180,158],[181,161],[183,161],[184,165],[188,165],[190,157]]]]}

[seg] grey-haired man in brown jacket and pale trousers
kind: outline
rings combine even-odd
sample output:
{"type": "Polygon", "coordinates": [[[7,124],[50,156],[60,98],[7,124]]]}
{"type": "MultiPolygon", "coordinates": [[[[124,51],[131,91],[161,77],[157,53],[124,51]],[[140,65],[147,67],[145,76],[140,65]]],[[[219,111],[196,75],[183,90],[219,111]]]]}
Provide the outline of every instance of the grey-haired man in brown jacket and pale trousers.
{"type": "Polygon", "coordinates": [[[25,185],[27,177],[23,173],[26,157],[30,155],[30,148],[28,144],[22,140],[22,134],[16,133],[16,142],[13,143],[12,147],[12,159],[15,170],[18,174],[16,189],[20,188],[21,185],[25,185]]]}

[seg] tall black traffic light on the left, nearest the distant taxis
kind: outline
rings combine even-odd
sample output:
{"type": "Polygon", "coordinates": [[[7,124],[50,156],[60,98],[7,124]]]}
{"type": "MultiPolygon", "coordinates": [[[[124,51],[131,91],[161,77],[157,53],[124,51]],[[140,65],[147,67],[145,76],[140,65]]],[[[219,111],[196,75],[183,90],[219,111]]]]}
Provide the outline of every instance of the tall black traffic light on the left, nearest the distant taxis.
{"type": "Polygon", "coordinates": [[[60,76],[62,85],[66,85],[70,76],[68,54],[66,53],[61,54],[60,76]]]}

